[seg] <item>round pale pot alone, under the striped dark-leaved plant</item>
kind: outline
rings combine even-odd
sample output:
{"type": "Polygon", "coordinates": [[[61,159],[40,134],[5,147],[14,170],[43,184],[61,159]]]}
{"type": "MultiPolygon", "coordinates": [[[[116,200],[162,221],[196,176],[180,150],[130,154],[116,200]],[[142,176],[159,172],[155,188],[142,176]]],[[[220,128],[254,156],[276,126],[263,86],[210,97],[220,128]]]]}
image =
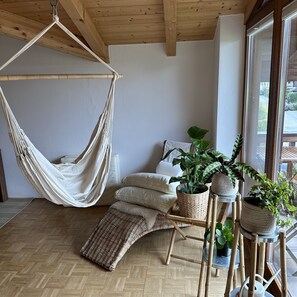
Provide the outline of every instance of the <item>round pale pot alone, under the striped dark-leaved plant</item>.
{"type": "Polygon", "coordinates": [[[227,175],[216,173],[212,177],[211,191],[222,196],[236,195],[238,192],[238,181],[236,181],[235,188],[233,188],[227,175]]]}

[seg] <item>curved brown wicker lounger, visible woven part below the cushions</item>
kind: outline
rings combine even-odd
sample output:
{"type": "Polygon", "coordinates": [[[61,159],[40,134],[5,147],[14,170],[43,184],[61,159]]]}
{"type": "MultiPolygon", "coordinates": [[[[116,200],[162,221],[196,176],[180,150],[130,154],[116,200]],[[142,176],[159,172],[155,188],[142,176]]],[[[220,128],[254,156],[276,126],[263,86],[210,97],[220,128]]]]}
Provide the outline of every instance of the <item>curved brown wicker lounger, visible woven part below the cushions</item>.
{"type": "Polygon", "coordinates": [[[148,230],[143,217],[109,208],[80,253],[105,269],[113,271],[136,240],[152,231],[171,227],[162,214],[157,216],[155,224],[148,230]]]}

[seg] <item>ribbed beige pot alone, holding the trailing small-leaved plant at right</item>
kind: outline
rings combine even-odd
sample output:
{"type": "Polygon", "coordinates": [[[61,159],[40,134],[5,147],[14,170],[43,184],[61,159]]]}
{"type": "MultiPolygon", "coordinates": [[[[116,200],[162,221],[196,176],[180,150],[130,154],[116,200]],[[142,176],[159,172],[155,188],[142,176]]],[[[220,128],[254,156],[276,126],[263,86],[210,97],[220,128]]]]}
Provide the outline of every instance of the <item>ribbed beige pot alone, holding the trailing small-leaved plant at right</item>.
{"type": "Polygon", "coordinates": [[[275,232],[276,219],[267,209],[252,205],[247,201],[253,197],[245,197],[242,201],[240,225],[243,229],[260,235],[268,235],[275,232]]]}

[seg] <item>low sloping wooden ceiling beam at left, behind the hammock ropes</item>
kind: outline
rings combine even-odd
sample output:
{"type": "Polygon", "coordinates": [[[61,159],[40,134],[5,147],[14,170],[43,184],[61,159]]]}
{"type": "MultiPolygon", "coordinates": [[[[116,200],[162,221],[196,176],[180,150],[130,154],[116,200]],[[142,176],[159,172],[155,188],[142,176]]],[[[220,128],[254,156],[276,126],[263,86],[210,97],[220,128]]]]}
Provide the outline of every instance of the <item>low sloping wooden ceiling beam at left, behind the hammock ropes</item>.
{"type": "MultiPolygon", "coordinates": [[[[0,34],[28,41],[35,37],[45,27],[46,25],[37,21],[0,10],[0,34]]],[[[56,27],[53,27],[41,37],[36,44],[67,54],[94,60],[94,58],[81,48],[80,45],[68,38],[61,29],[56,27]]]]}

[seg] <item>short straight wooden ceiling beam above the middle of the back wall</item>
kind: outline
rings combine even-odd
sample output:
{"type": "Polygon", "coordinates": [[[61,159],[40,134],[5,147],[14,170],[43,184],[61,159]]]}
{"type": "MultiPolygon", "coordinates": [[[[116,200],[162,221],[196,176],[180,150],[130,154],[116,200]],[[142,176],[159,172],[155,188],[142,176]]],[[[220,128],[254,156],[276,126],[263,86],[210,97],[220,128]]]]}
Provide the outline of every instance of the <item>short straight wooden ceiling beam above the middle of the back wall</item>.
{"type": "Polygon", "coordinates": [[[176,56],[176,14],[177,0],[163,0],[166,54],[176,56]]]}

